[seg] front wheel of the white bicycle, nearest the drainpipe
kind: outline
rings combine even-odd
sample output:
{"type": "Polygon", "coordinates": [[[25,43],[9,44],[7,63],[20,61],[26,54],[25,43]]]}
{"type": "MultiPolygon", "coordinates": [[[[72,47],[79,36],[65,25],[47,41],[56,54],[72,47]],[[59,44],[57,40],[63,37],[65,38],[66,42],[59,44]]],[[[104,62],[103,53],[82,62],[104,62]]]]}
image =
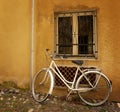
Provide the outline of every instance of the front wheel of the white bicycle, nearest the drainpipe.
{"type": "Polygon", "coordinates": [[[53,90],[53,76],[46,68],[40,70],[33,78],[32,94],[37,102],[44,102],[53,90]]]}

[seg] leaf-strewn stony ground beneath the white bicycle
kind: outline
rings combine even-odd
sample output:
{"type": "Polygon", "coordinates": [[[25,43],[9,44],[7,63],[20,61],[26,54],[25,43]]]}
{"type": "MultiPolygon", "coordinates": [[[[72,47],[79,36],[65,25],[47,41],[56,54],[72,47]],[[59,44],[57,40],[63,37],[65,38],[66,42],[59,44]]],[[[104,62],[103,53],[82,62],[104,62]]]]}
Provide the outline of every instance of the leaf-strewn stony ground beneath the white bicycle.
{"type": "Polygon", "coordinates": [[[120,103],[111,101],[102,106],[91,107],[81,101],[51,96],[44,104],[34,101],[28,89],[18,88],[14,83],[0,84],[0,112],[120,112],[120,103]]]}

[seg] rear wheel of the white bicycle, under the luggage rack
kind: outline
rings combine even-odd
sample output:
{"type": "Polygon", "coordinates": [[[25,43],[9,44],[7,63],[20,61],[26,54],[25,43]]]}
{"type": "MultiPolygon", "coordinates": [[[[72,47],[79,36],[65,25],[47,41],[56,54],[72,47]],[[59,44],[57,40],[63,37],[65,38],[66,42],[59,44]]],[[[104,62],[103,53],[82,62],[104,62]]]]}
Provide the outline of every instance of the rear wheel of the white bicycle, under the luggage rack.
{"type": "Polygon", "coordinates": [[[99,106],[105,103],[111,92],[109,79],[98,71],[88,71],[82,75],[76,88],[80,89],[78,95],[81,100],[91,106],[99,106]]]}

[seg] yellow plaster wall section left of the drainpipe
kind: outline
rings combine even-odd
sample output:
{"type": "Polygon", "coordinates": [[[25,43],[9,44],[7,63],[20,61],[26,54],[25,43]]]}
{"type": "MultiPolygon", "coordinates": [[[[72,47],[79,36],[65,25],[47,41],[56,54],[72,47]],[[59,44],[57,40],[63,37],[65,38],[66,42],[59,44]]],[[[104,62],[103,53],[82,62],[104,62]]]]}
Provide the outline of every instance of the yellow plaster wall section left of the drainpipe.
{"type": "Polygon", "coordinates": [[[0,0],[0,82],[29,83],[30,0],[0,0]]]}

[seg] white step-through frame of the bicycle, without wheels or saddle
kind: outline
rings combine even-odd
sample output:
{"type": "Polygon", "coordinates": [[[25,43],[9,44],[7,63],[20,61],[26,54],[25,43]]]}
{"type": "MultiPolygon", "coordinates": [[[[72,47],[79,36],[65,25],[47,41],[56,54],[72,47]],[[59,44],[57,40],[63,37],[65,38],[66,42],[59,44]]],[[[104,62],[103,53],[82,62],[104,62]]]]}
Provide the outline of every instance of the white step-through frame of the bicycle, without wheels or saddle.
{"type": "MultiPolygon", "coordinates": [[[[48,53],[49,49],[46,50],[46,51],[47,51],[47,52],[46,52],[47,55],[50,55],[50,54],[48,53]]],[[[90,70],[90,69],[81,70],[81,67],[80,67],[80,66],[76,66],[77,69],[76,69],[76,72],[75,72],[75,76],[74,76],[73,81],[71,82],[71,81],[66,80],[65,77],[63,76],[63,74],[60,72],[57,64],[56,64],[55,61],[54,61],[54,55],[50,55],[50,58],[51,58],[51,62],[50,62],[50,65],[49,65],[48,68],[50,69],[51,73],[52,73],[52,72],[55,73],[55,75],[57,75],[57,76],[61,79],[61,81],[67,86],[67,88],[68,88],[70,91],[82,91],[82,92],[86,92],[86,91],[90,91],[90,90],[94,89],[94,88],[97,86],[97,84],[98,84],[98,82],[99,82],[99,79],[100,79],[100,77],[101,77],[101,75],[102,75],[101,72],[100,72],[100,70],[97,70],[97,69],[94,69],[94,70],[93,70],[93,69],[92,69],[92,70],[90,70]],[[89,79],[85,76],[85,73],[89,72],[89,70],[90,70],[91,72],[97,71],[97,72],[100,74],[99,77],[96,77],[95,84],[92,84],[92,83],[89,81],[89,79]],[[80,77],[84,76],[84,77],[86,78],[86,80],[87,80],[88,84],[90,85],[90,87],[88,87],[88,88],[79,88],[79,89],[76,89],[78,71],[80,71],[80,73],[81,73],[81,76],[80,76],[80,77]]],[[[52,74],[53,74],[53,73],[52,73],[52,74]]],[[[105,75],[104,75],[104,76],[105,76],[105,75]]],[[[105,76],[105,77],[106,77],[106,76],[105,76]]],[[[107,77],[106,77],[106,78],[107,78],[107,77]]],[[[108,78],[107,78],[107,79],[108,79],[108,78]]],[[[109,81],[109,80],[108,80],[108,81],[109,81]]]]}

